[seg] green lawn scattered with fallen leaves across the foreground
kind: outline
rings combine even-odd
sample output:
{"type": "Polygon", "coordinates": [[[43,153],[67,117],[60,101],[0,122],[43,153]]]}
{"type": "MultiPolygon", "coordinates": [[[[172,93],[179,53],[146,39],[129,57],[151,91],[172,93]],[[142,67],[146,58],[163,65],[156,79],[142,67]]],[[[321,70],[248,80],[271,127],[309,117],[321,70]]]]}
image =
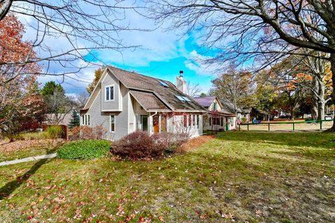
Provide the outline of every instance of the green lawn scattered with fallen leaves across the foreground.
{"type": "Polygon", "coordinates": [[[0,167],[0,221],[335,222],[335,134],[227,132],[152,162],[0,167]]]}

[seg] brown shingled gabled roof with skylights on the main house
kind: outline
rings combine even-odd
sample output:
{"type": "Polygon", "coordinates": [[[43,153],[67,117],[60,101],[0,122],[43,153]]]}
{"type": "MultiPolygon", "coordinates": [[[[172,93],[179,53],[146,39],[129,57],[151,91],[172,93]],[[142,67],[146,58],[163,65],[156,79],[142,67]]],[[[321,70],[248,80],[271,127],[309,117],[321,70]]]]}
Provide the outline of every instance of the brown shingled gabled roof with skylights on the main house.
{"type": "MultiPolygon", "coordinates": [[[[98,82],[99,84],[105,75],[109,73],[108,71],[110,71],[112,75],[119,79],[121,84],[124,84],[126,88],[131,90],[131,95],[133,95],[133,97],[143,107],[147,107],[149,110],[161,111],[162,109],[169,109],[170,111],[172,110],[175,112],[205,112],[206,110],[204,107],[195,102],[193,98],[179,91],[177,87],[174,86],[174,84],[171,82],[165,81],[163,79],[140,75],[136,72],[122,70],[120,68],[114,68],[112,66],[107,66],[104,75],[102,75],[98,82]],[[177,95],[188,98],[190,101],[180,101],[176,97],[177,95]]],[[[101,87],[96,87],[94,91],[98,91],[100,89],[101,87]]],[[[93,92],[92,95],[97,95],[97,93],[93,92]]],[[[85,105],[84,109],[88,109],[91,106],[93,100],[94,98],[92,99],[90,97],[89,102],[87,105],[85,105]]]]}

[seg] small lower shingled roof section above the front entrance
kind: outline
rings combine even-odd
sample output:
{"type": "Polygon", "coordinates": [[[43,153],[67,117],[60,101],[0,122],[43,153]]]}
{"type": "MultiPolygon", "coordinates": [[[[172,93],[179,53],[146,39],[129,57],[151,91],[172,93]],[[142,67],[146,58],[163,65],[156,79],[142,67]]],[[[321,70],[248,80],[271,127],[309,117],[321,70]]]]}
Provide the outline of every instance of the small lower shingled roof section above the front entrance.
{"type": "Polygon", "coordinates": [[[154,93],[134,90],[131,90],[130,92],[147,112],[150,110],[170,111],[170,109],[168,109],[168,107],[166,107],[154,93]]]}

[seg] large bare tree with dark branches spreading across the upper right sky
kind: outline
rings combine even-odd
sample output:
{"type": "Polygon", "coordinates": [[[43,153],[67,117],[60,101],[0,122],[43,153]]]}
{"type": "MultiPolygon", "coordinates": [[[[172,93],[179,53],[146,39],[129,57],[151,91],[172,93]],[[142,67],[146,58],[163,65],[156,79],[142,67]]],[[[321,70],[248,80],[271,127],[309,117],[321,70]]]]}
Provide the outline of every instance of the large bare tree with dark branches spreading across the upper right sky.
{"type": "MultiPolygon", "coordinates": [[[[335,2],[326,0],[154,1],[156,21],[172,20],[186,32],[201,28],[207,46],[221,48],[212,61],[265,58],[260,68],[298,49],[325,52],[335,73],[335,2]],[[225,41],[230,38],[230,43],[225,41]]],[[[320,57],[320,56],[316,56],[320,57]]],[[[332,77],[335,86],[335,75],[332,77]]],[[[333,87],[332,100],[335,101],[333,87]]],[[[330,129],[335,131],[335,121],[330,129]]]]}

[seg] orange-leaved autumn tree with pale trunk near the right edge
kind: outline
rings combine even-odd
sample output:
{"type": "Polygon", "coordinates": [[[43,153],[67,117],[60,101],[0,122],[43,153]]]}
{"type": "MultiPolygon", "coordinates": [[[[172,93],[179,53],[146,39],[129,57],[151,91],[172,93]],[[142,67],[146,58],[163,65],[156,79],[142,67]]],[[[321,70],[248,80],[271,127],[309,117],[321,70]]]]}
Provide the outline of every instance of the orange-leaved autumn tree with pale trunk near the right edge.
{"type": "MultiPolygon", "coordinates": [[[[318,52],[318,56],[323,54],[318,52]]],[[[324,55],[325,56],[325,55],[324,55]]],[[[311,99],[311,114],[318,120],[325,119],[325,104],[331,100],[332,72],[329,61],[312,56],[288,56],[271,68],[278,86],[291,93],[303,91],[311,99]]],[[[286,93],[288,93],[286,91],[286,93]]],[[[297,99],[298,100],[298,99],[297,99]]]]}

